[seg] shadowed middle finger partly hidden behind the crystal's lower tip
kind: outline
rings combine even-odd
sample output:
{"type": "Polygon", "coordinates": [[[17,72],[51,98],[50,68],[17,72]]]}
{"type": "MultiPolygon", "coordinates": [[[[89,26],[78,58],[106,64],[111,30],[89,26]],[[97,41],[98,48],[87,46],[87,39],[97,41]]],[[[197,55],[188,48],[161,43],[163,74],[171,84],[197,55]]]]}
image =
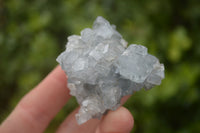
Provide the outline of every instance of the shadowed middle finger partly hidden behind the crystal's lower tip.
{"type": "MultiPolygon", "coordinates": [[[[125,96],[121,100],[121,104],[124,104],[125,101],[130,96],[125,96]]],[[[100,120],[98,119],[91,119],[87,121],[86,123],[82,125],[78,125],[77,121],[75,119],[75,114],[78,112],[78,108],[73,111],[59,126],[57,133],[65,133],[65,132],[71,132],[71,133],[80,133],[80,132],[85,132],[85,133],[94,133],[98,124],[100,123],[100,120]]]]}

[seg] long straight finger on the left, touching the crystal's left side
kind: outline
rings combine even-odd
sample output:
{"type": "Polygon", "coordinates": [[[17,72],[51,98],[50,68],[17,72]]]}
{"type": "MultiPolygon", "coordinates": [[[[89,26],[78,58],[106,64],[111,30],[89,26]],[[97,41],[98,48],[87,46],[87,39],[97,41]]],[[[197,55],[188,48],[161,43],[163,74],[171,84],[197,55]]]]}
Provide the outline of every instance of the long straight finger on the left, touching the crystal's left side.
{"type": "Polygon", "coordinates": [[[61,67],[56,67],[28,93],[4,121],[0,131],[40,133],[70,98],[67,80],[61,67]]]}

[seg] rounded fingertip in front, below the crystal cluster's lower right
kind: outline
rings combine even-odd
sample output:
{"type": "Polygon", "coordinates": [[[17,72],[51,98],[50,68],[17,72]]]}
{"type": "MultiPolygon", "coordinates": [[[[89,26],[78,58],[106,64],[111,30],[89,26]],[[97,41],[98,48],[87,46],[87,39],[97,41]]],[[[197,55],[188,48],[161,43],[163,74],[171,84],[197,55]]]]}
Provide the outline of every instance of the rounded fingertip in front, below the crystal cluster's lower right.
{"type": "Polygon", "coordinates": [[[102,119],[95,133],[129,133],[133,128],[133,117],[124,107],[109,113],[102,119]]]}

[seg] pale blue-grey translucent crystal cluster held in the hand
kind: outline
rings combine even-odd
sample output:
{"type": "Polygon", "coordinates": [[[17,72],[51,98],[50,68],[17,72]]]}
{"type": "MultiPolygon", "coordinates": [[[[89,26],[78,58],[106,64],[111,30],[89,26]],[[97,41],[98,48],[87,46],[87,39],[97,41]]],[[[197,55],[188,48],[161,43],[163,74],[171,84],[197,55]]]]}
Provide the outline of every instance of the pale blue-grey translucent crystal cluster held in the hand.
{"type": "Polygon", "coordinates": [[[160,85],[164,65],[142,45],[127,42],[114,25],[97,17],[93,28],[68,37],[57,61],[68,77],[70,94],[80,104],[78,124],[101,118],[120,106],[125,95],[160,85]]]}

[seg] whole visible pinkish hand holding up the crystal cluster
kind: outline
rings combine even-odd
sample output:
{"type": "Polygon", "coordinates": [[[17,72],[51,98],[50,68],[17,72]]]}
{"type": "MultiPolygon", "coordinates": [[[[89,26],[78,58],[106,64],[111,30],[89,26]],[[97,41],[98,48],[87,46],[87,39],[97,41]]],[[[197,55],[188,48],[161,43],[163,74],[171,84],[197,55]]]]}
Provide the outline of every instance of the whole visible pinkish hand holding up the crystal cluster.
{"type": "MultiPolygon", "coordinates": [[[[42,133],[70,99],[64,71],[57,66],[39,85],[26,94],[1,124],[0,133],[42,133]]],[[[128,99],[124,97],[122,104],[128,99]]],[[[124,107],[109,111],[101,120],[78,125],[75,109],[60,124],[57,133],[129,133],[133,117],[124,107]]]]}

